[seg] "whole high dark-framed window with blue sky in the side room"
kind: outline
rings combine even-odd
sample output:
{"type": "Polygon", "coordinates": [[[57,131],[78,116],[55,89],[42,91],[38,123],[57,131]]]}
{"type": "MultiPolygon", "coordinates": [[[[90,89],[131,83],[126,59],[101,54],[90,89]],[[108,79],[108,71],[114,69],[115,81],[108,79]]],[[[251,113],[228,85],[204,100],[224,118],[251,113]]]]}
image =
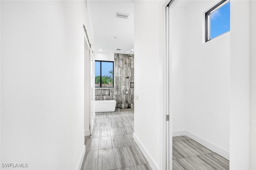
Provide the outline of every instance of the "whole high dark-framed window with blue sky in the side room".
{"type": "Polygon", "coordinates": [[[230,31],[230,1],[222,0],[205,14],[206,42],[230,31]]]}

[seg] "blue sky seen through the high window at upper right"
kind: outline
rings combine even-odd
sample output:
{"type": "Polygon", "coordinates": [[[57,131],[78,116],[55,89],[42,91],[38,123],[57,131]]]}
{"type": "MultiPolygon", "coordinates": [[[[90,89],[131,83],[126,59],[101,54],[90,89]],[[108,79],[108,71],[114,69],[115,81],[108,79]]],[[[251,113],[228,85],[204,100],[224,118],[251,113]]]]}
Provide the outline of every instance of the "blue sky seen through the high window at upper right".
{"type": "Polygon", "coordinates": [[[210,39],[230,31],[230,2],[210,14],[210,39]]]}

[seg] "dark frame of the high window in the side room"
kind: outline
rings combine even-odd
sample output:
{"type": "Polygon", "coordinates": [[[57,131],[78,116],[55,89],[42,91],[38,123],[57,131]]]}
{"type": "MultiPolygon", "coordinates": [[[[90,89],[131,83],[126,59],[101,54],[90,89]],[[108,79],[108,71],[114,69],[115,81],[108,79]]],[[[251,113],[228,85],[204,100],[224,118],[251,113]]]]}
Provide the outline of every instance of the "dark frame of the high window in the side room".
{"type": "Polygon", "coordinates": [[[212,7],[210,10],[208,10],[206,13],[205,13],[205,42],[208,42],[210,40],[213,40],[214,38],[217,38],[219,36],[222,36],[223,34],[226,34],[227,32],[230,32],[227,31],[227,32],[224,32],[223,34],[220,34],[214,38],[210,38],[210,14],[218,9],[220,9],[222,6],[226,5],[228,2],[230,2],[230,0],[222,0],[220,1],[218,4],[216,4],[214,7],[212,7]]]}

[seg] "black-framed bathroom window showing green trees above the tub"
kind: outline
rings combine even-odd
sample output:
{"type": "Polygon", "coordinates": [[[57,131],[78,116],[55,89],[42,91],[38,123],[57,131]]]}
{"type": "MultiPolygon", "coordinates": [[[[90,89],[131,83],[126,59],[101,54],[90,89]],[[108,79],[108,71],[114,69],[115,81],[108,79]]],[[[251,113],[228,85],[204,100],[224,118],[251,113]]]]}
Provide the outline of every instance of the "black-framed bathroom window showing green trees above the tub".
{"type": "Polygon", "coordinates": [[[95,87],[114,87],[113,61],[95,61],[95,87]]]}

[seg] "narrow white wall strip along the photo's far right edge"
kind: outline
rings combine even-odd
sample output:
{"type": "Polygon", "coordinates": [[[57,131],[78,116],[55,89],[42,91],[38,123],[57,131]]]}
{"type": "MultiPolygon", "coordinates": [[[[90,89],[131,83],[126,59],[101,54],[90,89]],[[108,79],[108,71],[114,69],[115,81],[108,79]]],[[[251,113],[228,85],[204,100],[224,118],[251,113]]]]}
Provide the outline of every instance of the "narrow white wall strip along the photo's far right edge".
{"type": "Polygon", "coordinates": [[[251,18],[251,169],[256,169],[256,1],[252,1],[251,5],[252,18],[251,18]]]}

